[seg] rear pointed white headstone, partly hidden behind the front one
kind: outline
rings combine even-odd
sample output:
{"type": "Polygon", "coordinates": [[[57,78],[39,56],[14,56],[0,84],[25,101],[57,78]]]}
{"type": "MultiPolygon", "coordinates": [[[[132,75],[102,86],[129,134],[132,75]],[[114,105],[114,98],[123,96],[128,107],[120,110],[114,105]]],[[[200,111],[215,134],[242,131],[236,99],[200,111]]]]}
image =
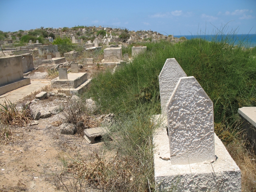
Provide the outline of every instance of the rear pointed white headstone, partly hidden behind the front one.
{"type": "Polygon", "coordinates": [[[180,67],[179,63],[173,59],[167,59],[159,75],[159,88],[161,98],[162,113],[166,114],[166,104],[170,99],[172,92],[180,77],[186,77],[186,73],[180,67]]]}

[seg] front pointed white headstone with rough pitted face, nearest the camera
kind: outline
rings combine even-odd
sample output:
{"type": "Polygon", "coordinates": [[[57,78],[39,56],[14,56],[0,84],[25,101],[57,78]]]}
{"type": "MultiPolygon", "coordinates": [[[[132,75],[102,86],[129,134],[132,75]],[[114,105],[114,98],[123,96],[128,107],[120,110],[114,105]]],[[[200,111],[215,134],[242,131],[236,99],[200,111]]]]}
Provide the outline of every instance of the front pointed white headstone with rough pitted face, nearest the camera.
{"type": "Polygon", "coordinates": [[[171,164],[213,161],[213,103],[196,78],[181,77],[167,104],[171,164]]]}

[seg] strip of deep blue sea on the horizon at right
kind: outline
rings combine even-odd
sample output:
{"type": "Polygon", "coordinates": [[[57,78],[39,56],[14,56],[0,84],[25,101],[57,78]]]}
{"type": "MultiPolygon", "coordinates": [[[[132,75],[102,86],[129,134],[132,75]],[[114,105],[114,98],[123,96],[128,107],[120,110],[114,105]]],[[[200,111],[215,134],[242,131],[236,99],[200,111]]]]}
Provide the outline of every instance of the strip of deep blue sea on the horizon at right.
{"type": "Polygon", "coordinates": [[[244,47],[255,47],[256,46],[256,34],[235,34],[235,35],[181,35],[174,37],[186,37],[187,39],[201,38],[207,41],[225,41],[228,44],[241,45],[244,47]]]}

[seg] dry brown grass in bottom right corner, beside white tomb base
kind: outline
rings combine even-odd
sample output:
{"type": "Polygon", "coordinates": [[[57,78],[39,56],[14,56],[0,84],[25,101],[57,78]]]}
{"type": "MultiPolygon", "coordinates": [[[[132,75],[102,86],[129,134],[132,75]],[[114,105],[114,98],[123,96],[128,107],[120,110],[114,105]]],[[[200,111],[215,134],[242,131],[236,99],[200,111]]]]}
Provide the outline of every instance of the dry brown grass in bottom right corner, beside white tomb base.
{"type": "Polygon", "coordinates": [[[228,146],[228,152],[241,170],[242,191],[256,191],[256,156],[251,153],[245,146],[248,142],[242,139],[235,139],[228,146]]]}

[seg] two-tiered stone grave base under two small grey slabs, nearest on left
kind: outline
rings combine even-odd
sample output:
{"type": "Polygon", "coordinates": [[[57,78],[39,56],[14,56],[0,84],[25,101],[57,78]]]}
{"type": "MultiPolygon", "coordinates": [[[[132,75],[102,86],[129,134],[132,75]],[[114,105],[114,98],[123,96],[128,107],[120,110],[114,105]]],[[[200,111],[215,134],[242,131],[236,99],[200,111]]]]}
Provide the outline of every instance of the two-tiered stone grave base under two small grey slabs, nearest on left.
{"type": "Polygon", "coordinates": [[[87,79],[87,73],[68,73],[68,79],[59,79],[59,77],[51,81],[52,88],[69,91],[70,94],[81,94],[89,85],[91,79],[87,79]]]}

